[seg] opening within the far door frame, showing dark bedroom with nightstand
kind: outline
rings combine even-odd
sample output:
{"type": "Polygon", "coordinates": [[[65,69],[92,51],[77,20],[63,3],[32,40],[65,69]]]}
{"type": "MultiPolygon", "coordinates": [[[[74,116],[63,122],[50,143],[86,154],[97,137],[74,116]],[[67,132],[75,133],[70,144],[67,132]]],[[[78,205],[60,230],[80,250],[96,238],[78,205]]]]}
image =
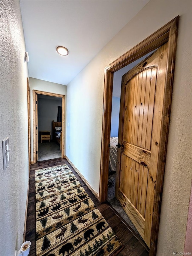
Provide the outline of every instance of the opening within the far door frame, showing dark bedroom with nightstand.
{"type": "Polygon", "coordinates": [[[38,159],[44,161],[61,158],[62,98],[38,96],[38,159]],[[56,121],[56,122],[55,122],[56,121]],[[56,129],[56,130],[55,130],[56,129]]]}

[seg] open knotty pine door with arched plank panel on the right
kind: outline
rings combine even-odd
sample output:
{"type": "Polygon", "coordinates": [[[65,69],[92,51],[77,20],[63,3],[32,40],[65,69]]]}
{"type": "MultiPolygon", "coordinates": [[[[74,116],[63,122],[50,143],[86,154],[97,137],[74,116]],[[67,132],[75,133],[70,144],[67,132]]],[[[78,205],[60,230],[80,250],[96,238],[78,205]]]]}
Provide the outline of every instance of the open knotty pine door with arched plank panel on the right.
{"type": "Polygon", "coordinates": [[[168,43],[122,77],[116,198],[150,247],[168,43]]]}

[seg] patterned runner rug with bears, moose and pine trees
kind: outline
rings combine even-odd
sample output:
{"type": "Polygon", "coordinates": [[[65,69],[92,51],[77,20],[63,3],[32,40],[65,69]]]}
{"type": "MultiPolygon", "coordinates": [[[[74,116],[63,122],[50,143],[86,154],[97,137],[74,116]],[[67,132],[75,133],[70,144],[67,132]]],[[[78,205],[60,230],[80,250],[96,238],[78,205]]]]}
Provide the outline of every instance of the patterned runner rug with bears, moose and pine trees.
{"type": "Polygon", "coordinates": [[[123,245],[67,164],[35,171],[36,255],[115,256],[123,245]]]}

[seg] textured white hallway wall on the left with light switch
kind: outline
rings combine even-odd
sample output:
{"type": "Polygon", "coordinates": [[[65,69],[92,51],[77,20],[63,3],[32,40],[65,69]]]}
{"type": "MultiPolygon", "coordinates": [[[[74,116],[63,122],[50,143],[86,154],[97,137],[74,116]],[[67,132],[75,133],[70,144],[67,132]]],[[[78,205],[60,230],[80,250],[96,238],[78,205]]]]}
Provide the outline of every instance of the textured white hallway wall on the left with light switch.
{"type": "Polygon", "coordinates": [[[1,1],[1,256],[22,245],[28,188],[27,77],[19,1],[1,1]],[[2,140],[9,137],[10,164],[3,169],[2,140]]]}

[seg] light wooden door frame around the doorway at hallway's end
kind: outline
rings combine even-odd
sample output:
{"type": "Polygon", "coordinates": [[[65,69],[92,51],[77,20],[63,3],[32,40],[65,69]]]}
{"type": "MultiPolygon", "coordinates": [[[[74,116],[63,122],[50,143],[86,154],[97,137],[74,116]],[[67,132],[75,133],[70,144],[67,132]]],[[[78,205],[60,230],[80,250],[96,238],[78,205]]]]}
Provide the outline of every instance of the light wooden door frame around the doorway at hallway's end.
{"type": "Polygon", "coordinates": [[[62,98],[62,133],[61,133],[61,158],[65,158],[64,155],[64,135],[65,135],[65,95],[56,94],[51,92],[42,92],[33,90],[33,164],[37,162],[36,157],[36,94],[43,94],[49,96],[55,96],[62,98]]]}

